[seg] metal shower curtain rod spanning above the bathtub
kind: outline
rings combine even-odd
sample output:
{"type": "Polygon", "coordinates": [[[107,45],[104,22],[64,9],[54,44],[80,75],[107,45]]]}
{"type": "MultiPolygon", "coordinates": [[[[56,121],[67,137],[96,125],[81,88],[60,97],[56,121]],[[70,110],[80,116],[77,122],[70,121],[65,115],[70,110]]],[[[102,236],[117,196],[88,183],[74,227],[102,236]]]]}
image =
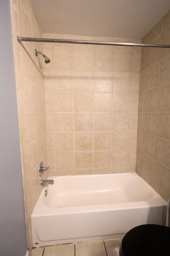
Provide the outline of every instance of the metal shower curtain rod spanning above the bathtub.
{"type": "Polygon", "coordinates": [[[52,38],[33,38],[33,37],[17,37],[19,42],[47,42],[47,43],[82,43],[87,45],[119,45],[119,46],[142,46],[142,47],[164,47],[170,48],[170,45],[150,45],[145,43],[118,43],[104,41],[86,41],[86,40],[69,40],[69,39],[52,39],[52,38]]]}

